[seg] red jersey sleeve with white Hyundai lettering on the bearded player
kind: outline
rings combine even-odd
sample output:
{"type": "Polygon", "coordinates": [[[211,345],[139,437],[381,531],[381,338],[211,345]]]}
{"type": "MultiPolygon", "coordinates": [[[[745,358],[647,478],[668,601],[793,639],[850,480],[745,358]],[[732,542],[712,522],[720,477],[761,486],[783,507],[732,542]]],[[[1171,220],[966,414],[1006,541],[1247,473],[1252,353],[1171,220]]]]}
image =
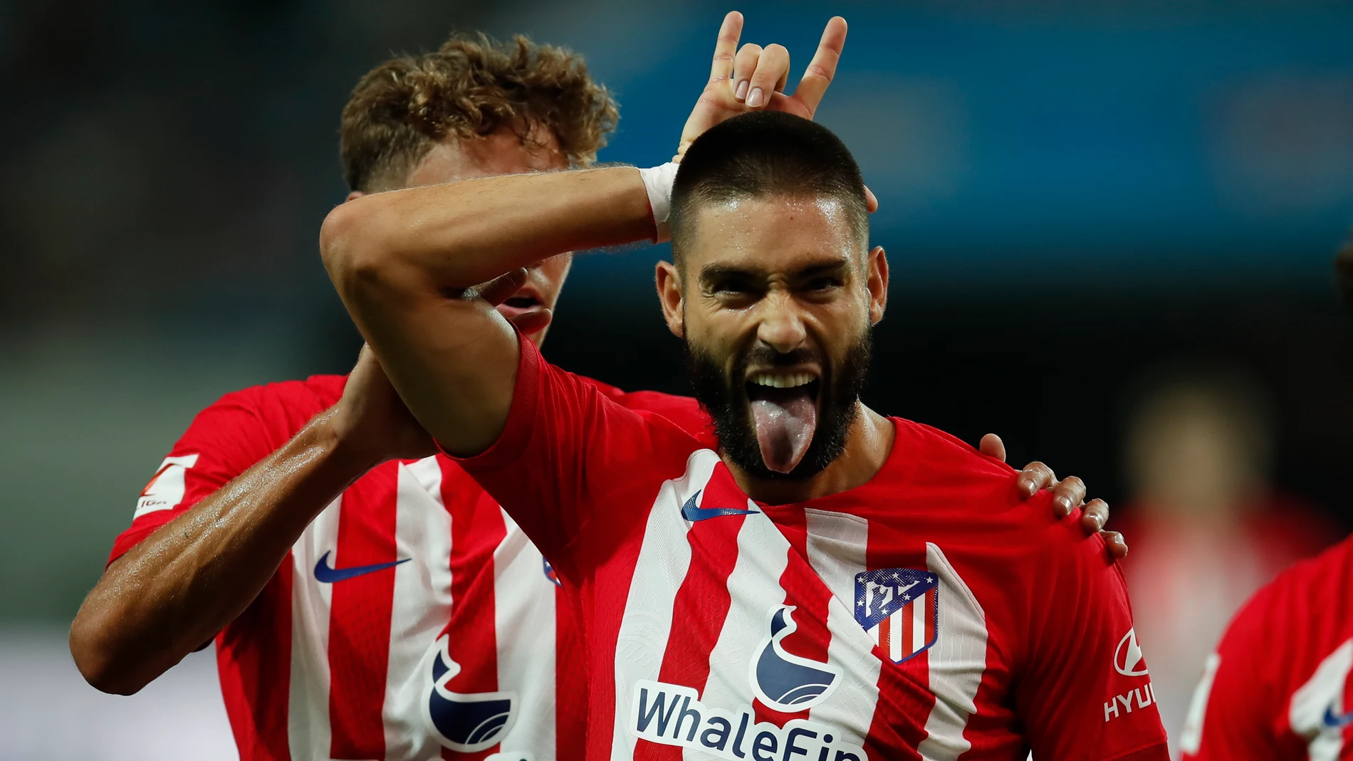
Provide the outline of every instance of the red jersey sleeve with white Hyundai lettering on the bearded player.
{"type": "Polygon", "coordinates": [[[1027,581],[1027,661],[1016,710],[1034,758],[1168,761],[1127,585],[1074,518],[1051,524],[1027,581]]]}

